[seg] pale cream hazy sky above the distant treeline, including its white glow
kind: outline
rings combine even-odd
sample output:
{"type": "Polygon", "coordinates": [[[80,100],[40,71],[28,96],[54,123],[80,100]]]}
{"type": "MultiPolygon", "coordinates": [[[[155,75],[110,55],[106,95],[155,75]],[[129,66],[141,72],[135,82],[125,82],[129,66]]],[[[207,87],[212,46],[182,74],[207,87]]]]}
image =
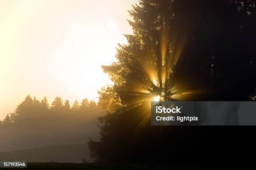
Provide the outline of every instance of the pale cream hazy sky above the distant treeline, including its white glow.
{"type": "Polygon", "coordinates": [[[137,0],[0,0],[0,120],[26,97],[95,99],[137,0]]]}

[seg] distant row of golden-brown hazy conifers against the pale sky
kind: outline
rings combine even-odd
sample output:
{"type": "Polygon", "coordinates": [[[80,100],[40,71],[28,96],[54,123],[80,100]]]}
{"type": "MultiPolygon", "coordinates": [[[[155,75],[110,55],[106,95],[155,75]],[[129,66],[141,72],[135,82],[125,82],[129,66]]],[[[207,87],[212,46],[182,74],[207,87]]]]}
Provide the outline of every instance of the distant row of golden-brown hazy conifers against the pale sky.
{"type": "Polygon", "coordinates": [[[89,101],[87,98],[84,98],[81,102],[75,100],[73,105],[70,105],[69,100],[63,102],[61,97],[57,96],[49,104],[46,96],[40,101],[36,97],[32,99],[28,95],[14,112],[7,114],[3,120],[0,120],[0,126],[20,124],[31,120],[40,121],[46,117],[53,118],[53,115],[60,116],[60,114],[66,117],[67,115],[74,117],[74,114],[86,116],[86,113],[95,112],[95,110],[101,110],[101,108],[97,107],[94,100],[89,101]]]}

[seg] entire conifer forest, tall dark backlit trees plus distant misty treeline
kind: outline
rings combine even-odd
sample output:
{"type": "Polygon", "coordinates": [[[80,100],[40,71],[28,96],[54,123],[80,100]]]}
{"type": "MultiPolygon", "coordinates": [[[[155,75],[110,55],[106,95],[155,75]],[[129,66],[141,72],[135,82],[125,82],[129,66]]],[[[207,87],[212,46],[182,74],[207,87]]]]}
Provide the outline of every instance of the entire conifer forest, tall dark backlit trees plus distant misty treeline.
{"type": "Polygon", "coordinates": [[[250,162],[255,128],[151,126],[150,102],[256,100],[255,5],[255,0],[139,0],[128,11],[133,35],[124,35],[128,43],[118,45],[118,61],[102,66],[114,84],[99,90],[97,104],[85,99],[70,106],[56,97],[49,106],[46,98],[27,96],[0,128],[64,134],[82,130],[90,113],[100,116],[99,132],[92,132],[100,138],[88,141],[98,163],[250,162]]]}

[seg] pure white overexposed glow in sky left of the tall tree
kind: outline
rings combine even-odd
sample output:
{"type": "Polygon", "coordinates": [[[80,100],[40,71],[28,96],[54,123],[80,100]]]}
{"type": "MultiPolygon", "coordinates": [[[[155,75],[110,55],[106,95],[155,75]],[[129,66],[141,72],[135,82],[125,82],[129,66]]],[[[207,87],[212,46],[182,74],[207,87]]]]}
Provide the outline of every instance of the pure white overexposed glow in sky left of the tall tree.
{"type": "Polygon", "coordinates": [[[51,53],[51,73],[74,96],[95,99],[100,87],[111,84],[101,65],[114,60],[118,37],[104,27],[78,24],[68,27],[65,36],[63,47],[51,53]]]}

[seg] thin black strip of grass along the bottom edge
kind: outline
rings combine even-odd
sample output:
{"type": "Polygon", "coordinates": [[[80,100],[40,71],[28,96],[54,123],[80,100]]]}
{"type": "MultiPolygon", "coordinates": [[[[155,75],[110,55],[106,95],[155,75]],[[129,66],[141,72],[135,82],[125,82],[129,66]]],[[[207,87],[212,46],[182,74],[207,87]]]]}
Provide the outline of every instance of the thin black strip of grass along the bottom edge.
{"type": "MultiPolygon", "coordinates": [[[[0,170],[20,168],[0,168],[0,170]]],[[[171,166],[146,164],[100,164],[100,163],[28,163],[26,170],[253,170],[254,168],[220,168],[206,166],[171,166]]]]}

